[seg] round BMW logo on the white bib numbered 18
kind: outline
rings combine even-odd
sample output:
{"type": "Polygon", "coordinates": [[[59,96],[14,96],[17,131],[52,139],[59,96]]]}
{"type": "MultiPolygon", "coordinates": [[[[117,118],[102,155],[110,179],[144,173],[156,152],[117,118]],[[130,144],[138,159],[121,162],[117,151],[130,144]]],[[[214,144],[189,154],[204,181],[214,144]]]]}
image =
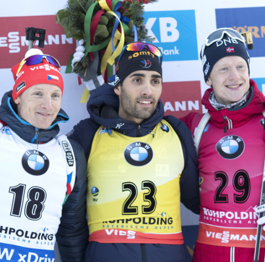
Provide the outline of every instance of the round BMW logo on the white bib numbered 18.
{"type": "Polygon", "coordinates": [[[39,176],[48,170],[49,160],[38,150],[27,150],[22,156],[22,166],[29,174],[39,176]]]}

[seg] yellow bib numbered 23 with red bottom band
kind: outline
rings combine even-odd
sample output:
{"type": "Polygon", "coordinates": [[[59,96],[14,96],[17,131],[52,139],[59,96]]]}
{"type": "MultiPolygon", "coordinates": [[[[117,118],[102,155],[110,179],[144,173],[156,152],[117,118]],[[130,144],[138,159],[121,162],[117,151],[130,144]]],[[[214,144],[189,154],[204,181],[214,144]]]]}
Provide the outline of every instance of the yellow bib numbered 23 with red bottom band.
{"type": "Polygon", "coordinates": [[[99,127],[87,167],[90,241],[181,244],[182,146],[163,120],[143,137],[99,127]]]}

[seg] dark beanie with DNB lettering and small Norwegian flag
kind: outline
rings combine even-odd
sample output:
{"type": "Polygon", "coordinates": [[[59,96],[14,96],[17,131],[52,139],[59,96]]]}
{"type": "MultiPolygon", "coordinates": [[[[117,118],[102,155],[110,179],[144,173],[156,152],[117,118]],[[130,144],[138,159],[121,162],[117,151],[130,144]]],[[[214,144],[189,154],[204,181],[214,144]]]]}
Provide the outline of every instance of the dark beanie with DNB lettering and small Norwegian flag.
{"type": "Polygon", "coordinates": [[[205,82],[216,62],[228,56],[242,57],[247,62],[249,74],[249,55],[245,43],[238,39],[231,38],[226,34],[224,34],[221,40],[213,42],[209,46],[205,46],[204,54],[201,54],[201,56],[205,82]]]}

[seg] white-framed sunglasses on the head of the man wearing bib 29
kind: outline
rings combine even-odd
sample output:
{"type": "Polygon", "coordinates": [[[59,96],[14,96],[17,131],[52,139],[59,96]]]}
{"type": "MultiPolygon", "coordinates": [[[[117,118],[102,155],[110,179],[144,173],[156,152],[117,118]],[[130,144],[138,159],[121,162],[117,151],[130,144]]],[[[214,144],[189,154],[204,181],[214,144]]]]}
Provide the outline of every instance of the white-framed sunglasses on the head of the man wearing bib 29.
{"type": "Polygon", "coordinates": [[[213,32],[211,32],[208,37],[204,40],[203,45],[201,47],[200,57],[201,59],[204,56],[204,50],[206,46],[211,45],[214,42],[217,42],[224,38],[224,35],[229,36],[230,38],[237,39],[241,42],[245,42],[245,38],[236,30],[231,28],[219,28],[213,32]]]}

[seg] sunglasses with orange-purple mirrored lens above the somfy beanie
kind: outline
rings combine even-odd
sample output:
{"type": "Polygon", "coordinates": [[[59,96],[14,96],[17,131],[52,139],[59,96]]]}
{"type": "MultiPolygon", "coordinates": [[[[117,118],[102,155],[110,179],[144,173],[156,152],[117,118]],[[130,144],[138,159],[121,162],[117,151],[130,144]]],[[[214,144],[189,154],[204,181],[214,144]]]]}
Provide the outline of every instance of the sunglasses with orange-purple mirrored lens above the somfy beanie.
{"type": "Polygon", "coordinates": [[[122,52],[121,52],[121,54],[120,54],[120,56],[118,58],[117,64],[116,64],[117,65],[116,66],[116,71],[117,71],[117,68],[118,68],[118,65],[119,65],[119,61],[121,60],[121,58],[122,58],[122,56],[123,56],[125,51],[141,51],[144,48],[147,48],[152,54],[157,56],[157,58],[160,61],[160,64],[162,64],[163,55],[162,55],[161,50],[158,47],[156,47],[155,45],[150,44],[150,43],[132,42],[132,43],[126,44],[123,47],[122,52]]]}

